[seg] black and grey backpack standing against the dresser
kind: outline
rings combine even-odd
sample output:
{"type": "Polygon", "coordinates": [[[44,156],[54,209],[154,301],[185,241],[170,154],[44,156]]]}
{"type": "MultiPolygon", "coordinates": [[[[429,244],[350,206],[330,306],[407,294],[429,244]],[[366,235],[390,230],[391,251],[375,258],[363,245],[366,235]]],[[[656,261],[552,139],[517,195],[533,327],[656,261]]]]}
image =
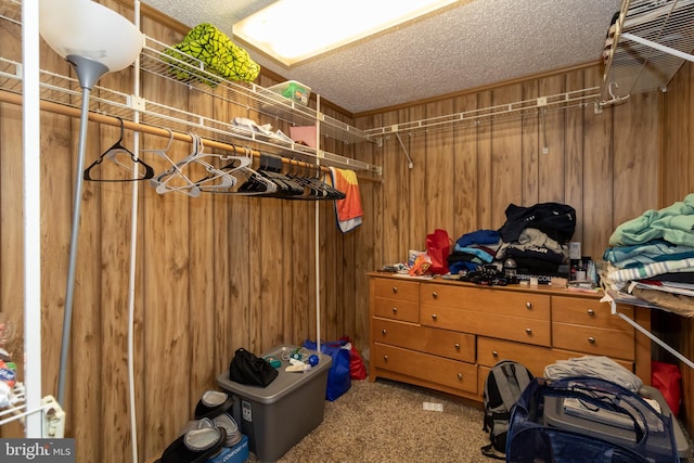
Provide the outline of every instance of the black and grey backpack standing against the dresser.
{"type": "Polygon", "coordinates": [[[532,373],[527,368],[512,360],[502,360],[489,371],[483,396],[483,430],[489,432],[491,443],[481,448],[485,456],[504,460],[503,456],[494,454],[493,450],[505,452],[511,409],[532,380],[532,373]]]}

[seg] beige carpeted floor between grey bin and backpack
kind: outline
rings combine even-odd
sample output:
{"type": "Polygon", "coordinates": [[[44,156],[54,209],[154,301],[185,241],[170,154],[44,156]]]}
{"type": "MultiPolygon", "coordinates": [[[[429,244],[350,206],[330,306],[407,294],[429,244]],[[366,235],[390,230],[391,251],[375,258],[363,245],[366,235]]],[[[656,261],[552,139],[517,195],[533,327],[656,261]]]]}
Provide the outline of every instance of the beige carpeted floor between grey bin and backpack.
{"type": "Polygon", "coordinates": [[[352,381],[325,402],[323,423],[279,463],[492,462],[479,452],[489,439],[481,426],[481,407],[470,402],[397,382],[352,381]],[[424,410],[424,402],[444,411],[424,410]]]}

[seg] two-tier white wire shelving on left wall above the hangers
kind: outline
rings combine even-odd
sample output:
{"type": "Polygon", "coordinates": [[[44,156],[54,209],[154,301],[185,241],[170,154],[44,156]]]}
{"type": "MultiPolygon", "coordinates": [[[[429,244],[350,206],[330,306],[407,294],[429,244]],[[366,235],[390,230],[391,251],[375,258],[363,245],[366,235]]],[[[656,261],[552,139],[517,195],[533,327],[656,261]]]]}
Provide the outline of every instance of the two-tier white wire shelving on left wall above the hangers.
{"type": "MultiPolygon", "coordinates": [[[[3,3],[0,20],[21,25],[14,10],[16,8],[12,5],[7,8],[3,3]]],[[[319,110],[294,102],[255,83],[222,79],[206,70],[204,63],[200,60],[190,56],[180,60],[177,56],[181,54],[174,53],[172,48],[145,37],[140,55],[142,76],[177,82],[184,86],[191,94],[204,94],[215,102],[231,103],[246,114],[261,114],[273,120],[275,123],[272,124],[273,126],[279,123],[291,126],[318,124],[321,137],[331,137],[345,143],[372,142],[365,132],[330,117],[319,110]]],[[[0,56],[0,90],[22,92],[21,66],[18,62],[0,56]]],[[[81,89],[76,78],[41,69],[40,86],[42,101],[79,107],[81,89]]],[[[209,140],[228,144],[244,143],[268,153],[308,163],[367,171],[376,176],[382,172],[381,166],[330,153],[320,147],[312,149],[299,143],[268,138],[239,127],[232,120],[218,120],[103,86],[94,87],[90,98],[90,112],[130,120],[133,110],[140,112],[140,124],[180,132],[193,131],[209,140]]]]}

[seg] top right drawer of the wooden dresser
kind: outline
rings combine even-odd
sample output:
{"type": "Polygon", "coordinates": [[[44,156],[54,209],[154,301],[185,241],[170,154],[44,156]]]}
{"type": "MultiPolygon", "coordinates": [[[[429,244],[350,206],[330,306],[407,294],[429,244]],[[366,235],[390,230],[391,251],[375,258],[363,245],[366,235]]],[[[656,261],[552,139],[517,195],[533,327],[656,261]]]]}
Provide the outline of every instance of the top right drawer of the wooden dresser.
{"type": "MultiPolygon", "coordinates": [[[[633,319],[632,307],[620,306],[619,311],[633,319]]],[[[552,296],[552,321],[634,332],[633,326],[611,313],[608,304],[579,297],[552,296]]]]}

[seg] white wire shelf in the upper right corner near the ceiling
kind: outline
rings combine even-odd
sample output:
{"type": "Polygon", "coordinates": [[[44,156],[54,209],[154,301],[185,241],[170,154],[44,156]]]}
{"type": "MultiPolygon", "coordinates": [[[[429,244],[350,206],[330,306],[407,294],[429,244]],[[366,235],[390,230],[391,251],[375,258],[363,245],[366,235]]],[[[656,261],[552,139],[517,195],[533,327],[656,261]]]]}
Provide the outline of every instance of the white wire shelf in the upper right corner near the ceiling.
{"type": "Polygon", "coordinates": [[[624,0],[607,40],[601,104],[665,91],[684,61],[694,61],[694,0],[624,0]]]}

